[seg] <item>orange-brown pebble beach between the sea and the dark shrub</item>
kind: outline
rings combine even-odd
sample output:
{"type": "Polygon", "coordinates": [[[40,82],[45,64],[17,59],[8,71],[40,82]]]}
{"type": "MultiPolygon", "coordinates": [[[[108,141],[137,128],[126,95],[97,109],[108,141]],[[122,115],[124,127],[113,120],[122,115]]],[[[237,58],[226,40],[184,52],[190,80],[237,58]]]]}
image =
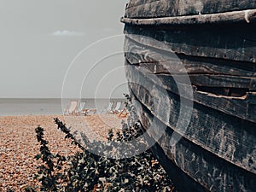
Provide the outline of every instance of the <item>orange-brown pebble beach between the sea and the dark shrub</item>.
{"type": "Polygon", "coordinates": [[[53,118],[59,118],[71,126],[72,131],[84,131],[90,140],[107,140],[108,130],[121,129],[121,118],[117,114],[90,116],[30,115],[0,117],[0,191],[15,189],[24,191],[26,186],[35,186],[33,178],[38,161],[34,156],[39,152],[35,129],[44,128],[44,139],[49,141],[52,153],[70,155],[79,151],[65,134],[57,130],[53,118]]]}

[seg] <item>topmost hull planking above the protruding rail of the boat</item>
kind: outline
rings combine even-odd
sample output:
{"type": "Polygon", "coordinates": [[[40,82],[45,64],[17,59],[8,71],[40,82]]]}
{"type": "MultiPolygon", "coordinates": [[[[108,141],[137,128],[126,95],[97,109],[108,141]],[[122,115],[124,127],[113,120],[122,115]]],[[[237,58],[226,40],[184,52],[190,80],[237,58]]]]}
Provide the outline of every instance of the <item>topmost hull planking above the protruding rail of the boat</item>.
{"type": "Polygon", "coordinates": [[[222,13],[256,8],[254,0],[131,0],[125,9],[128,18],[154,18],[222,13]]]}

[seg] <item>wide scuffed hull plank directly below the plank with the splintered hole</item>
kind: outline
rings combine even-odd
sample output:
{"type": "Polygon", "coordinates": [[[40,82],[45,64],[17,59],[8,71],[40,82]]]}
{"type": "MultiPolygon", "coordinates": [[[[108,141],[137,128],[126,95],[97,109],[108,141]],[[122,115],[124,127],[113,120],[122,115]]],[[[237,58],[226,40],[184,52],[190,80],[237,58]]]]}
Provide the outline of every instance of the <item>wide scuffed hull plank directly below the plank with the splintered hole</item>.
{"type": "Polygon", "coordinates": [[[248,172],[256,173],[255,123],[236,119],[197,103],[194,103],[194,108],[186,107],[186,103],[183,103],[188,109],[183,110],[180,116],[179,97],[169,91],[166,96],[165,89],[132,68],[126,69],[130,88],[155,117],[177,133],[183,133],[183,137],[190,142],[248,172]],[[177,126],[177,119],[181,118],[181,125],[186,124],[189,110],[192,110],[192,116],[188,129],[183,132],[183,127],[177,126]]]}

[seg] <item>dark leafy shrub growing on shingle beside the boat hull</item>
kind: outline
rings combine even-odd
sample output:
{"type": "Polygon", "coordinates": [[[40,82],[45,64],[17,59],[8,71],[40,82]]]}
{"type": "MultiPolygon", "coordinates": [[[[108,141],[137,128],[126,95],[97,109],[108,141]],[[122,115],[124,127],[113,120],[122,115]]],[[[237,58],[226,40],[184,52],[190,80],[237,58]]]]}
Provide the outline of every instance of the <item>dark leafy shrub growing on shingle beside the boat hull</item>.
{"type": "MultiPolygon", "coordinates": [[[[176,191],[149,149],[143,154],[124,159],[108,159],[105,155],[99,156],[87,149],[102,153],[111,151],[114,156],[120,143],[143,134],[136,110],[130,97],[126,97],[126,109],[129,112],[127,122],[122,121],[122,131],[108,131],[107,145],[101,142],[90,143],[82,132],[71,133],[59,119],[54,119],[58,129],[66,134],[65,138],[80,149],[76,154],[65,157],[52,154],[47,147],[48,142],[44,140],[44,129],[40,126],[36,129],[40,153],[35,158],[43,164],[38,167],[35,177],[41,183],[41,191],[176,191]],[[78,134],[82,139],[77,139],[78,134]],[[67,162],[67,166],[63,166],[64,162],[67,162]]],[[[136,146],[133,147],[136,149],[136,146]]],[[[26,191],[35,191],[35,188],[26,191]]]]}

